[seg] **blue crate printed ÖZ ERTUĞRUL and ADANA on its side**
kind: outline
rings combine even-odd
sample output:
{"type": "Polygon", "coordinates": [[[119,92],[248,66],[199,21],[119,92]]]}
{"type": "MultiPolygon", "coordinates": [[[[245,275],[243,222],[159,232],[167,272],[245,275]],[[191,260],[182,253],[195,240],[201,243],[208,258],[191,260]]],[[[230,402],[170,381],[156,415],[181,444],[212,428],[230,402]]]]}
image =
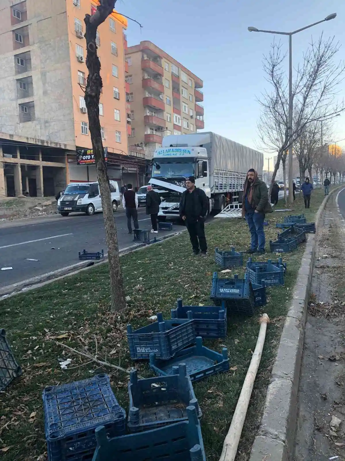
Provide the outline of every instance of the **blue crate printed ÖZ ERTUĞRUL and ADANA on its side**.
{"type": "Polygon", "coordinates": [[[225,301],[227,314],[253,315],[255,300],[252,284],[245,274],[244,279],[218,278],[218,272],[213,272],[211,300],[216,306],[225,301]]]}

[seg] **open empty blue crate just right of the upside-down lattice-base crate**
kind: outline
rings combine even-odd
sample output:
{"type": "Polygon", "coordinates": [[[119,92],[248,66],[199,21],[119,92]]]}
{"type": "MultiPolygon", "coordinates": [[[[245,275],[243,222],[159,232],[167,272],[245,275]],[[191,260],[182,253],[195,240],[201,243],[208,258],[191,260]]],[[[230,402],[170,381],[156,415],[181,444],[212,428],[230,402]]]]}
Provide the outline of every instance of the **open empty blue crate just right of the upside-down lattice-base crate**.
{"type": "Polygon", "coordinates": [[[132,370],[128,394],[127,427],[131,432],[184,421],[189,405],[196,408],[199,418],[202,415],[184,363],[174,366],[173,374],[164,378],[138,379],[137,370],[132,370]]]}

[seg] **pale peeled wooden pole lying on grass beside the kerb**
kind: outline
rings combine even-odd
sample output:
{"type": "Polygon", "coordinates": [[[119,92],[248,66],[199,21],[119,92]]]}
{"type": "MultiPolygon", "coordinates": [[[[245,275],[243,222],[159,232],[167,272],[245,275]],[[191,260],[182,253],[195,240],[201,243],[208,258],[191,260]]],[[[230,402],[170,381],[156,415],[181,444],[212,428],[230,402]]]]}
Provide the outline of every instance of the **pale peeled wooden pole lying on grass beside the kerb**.
{"type": "Polygon", "coordinates": [[[226,434],[223,451],[219,461],[234,461],[240,441],[244,420],[246,419],[250,396],[252,395],[253,385],[258,372],[262,349],[264,348],[267,324],[270,319],[267,314],[263,314],[260,319],[260,331],[255,350],[250,361],[246,378],[244,379],[240,397],[238,399],[234,415],[231,420],[230,428],[226,434]]]}

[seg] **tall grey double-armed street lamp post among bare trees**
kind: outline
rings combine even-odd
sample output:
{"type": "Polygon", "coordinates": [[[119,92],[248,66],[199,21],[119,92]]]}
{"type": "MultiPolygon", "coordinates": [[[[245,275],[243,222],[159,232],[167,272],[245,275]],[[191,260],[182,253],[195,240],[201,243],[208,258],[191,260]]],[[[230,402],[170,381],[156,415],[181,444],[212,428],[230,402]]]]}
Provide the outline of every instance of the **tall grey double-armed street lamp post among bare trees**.
{"type": "MultiPolygon", "coordinates": [[[[321,21],[317,21],[316,23],[310,24],[309,26],[302,27],[301,29],[294,30],[293,32],[278,32],[276,30],[260,30],[256,27],[248,27],[249,32],[265,32],[266,34],[278,34],[278,35],[288,35],[289,37],[289,126],[288,126],[288,133],[289,133],[289,142],[291,143],[292,138],[292,120],[293,120],[293,97],[292,97],[292,36],[301,32],[302,30],[309,29],[310,27],[316,26],[317,24],[321,24],[324,21],[329,21],[330,19],[334,19],[337,16],[337,13],[332,13],[326,16],[326,18],[322,19],[321,21]]],[[[292,144],[289,147],[289,156],[288,156],[288,178],[289,178],[289,190],[293,188],[293,152],[292,152],[292,144]]],[[[292,194],[288,195],[288,202],[293,203],[293,196],[292,194]]]]}

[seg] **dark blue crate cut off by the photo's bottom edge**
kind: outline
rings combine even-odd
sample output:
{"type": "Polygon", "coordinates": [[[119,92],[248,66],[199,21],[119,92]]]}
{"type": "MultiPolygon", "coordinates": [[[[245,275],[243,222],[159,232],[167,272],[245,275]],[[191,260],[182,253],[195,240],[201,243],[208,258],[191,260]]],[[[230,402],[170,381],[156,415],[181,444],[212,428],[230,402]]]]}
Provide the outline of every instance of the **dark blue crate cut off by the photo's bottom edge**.
{"type": "Polygon", "coordinates": [[[206,461],[196,408],[186,412],[188,421],[123,437],[109,439],[98,427],[92,461],[206,461]]]}

